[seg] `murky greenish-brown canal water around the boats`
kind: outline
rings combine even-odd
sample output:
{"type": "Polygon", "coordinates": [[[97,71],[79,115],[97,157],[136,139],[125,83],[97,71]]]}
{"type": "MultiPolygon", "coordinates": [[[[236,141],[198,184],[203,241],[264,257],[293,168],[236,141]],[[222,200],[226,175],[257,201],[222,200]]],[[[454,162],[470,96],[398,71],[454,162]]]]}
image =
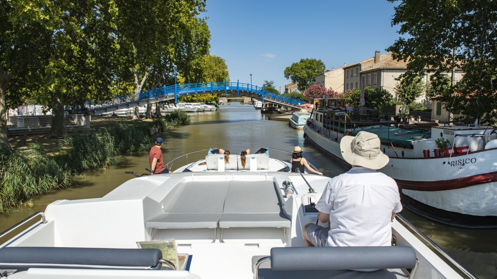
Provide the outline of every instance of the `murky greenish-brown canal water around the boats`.
{"type": "MultiPolygon", "coordinates": [[[[296,145],[304,150],[304,156],[325,176],[333,177],[346,169],[324,156],[303,138],[302,130],[288,126],[288,122],[272,121],[250,105],[234,103],[222,105],[216,112],[193,113],[191,124],[179,127],[160,135],[164,138],[164,162],[182,154],[200,149],[217,147],[239,154],[249,148],[255,152],[261,147],[277,148],[291,151],[296,145]]],[[[186,158],[176,160],[172,169],[187,162],[204,157],[206,151],[193,153],[186,158]]],[[[289,161],[290,155],[270,150],[272,157],[289,161]]],[[[19,222],[36,211],[44,211],[46,206],[56,200],[75,200],[100,198],[111,190],[134,178],[124,171],[145,172],[149,166],[148,152],[129,156],[119,156],[117,164],[105,169],[87,171],[77,180],[76,185],[62,190],[54,190],[37,196],[32,206],[10,209],[0,213],[0,231],[19,222]]],[[[138,187],[138,186],[137,186],[138,187]]],[[[401,214],[441,246],[457,261],[467,267],[481,279],[497,278],[497,229],[464,229],[447,226],[427,220],[408,209],[401,214]]],[[[6,241],[0,239],[0,243],[6,241]]]]}

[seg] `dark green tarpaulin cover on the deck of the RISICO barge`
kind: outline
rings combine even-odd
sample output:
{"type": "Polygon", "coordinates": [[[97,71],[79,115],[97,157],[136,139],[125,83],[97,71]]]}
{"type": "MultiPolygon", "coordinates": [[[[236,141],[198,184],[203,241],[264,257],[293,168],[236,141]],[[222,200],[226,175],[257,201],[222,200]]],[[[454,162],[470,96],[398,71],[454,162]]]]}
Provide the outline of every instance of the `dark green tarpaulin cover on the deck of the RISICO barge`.
{"type": "Polygon", "coordinates": [[[429,139],[430,132],[421,130],[407,130],[387,126],[374,126],[361,129],[350,130],[350,136],[356,136],[360,131],[373,133],[380,138],[381,141],[392,142],[394,146],[402,148],[413,148],[411,143],[413,140],[429,139]]]}

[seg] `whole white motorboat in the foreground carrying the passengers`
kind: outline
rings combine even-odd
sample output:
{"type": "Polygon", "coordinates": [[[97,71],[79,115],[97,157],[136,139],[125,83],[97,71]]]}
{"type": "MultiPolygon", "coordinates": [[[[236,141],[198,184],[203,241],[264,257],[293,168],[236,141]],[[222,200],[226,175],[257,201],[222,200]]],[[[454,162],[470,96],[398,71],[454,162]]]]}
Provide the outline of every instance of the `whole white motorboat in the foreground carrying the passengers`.
{"type": "MultiPolygon", "coordinates": [[[[187,155],[193,156],[181,159],[187,155]]],[[[303,247],[302,228],[316,222],[315,203],[330,178],[290,173],[289,166],[267,154],[250,154],[244,170],[240,155],[230,155],[225,164],[224,155],[210,154],[170,174],[131,179],[103,198],[55,201],[0,234],[42,217],[0,245],[0,274],[476,279],[402,216],[391,223],[395,246],[303,247]],[[165,253],[138,249],[144,241],[165,253]]]]}

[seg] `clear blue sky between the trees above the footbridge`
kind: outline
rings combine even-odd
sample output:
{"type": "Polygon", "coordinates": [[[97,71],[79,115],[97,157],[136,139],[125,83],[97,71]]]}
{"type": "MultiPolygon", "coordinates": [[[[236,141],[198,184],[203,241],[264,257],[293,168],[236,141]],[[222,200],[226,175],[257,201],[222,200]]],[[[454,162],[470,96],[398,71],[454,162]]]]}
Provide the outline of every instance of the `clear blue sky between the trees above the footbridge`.
{"type": "Polygon", "coordinates": [[[385,53],[399,37],[387,0],[207,0],[212,55],[226,60],[232,81],[281,91],[283,70],[301,58],[338,68],[385,53]]]}

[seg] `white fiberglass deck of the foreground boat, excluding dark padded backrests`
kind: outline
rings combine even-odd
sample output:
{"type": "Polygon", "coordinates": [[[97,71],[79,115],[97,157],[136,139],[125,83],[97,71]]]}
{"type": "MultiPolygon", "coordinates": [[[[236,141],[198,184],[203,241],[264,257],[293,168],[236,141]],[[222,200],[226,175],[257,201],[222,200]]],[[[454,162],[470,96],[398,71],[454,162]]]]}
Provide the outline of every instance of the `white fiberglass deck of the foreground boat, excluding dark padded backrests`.
{"type": "MultiPolygon", "coordinates": [[[[136,248],[137,241],[173,238],[178,253],[192,255],[189,271],[31,268],[9,278],[251,279],[254,263],[271,248],[304,246],[302,228],[317,218],[310,197],[319,200],[330,179],[304,176],[316,193],[309,193],[296,173],[205,171],[135,178],[103,198],[56,201],[47,207],[47,223],[33,225],[2,246],[136,248]],[[289,197],[285,181],[295,189],[289,197]]],[[[416,252],[419,266],[414,278],[461,278],[397,221],[393,234],[397,245],[412,246],[416,252]]],[[[409,273],[319,274],[315,278],[405,278],[409,273]]],[[[302,272],[273,273],[261,266],[260,278],[281,276],[299,278],[302,272]]]]}

